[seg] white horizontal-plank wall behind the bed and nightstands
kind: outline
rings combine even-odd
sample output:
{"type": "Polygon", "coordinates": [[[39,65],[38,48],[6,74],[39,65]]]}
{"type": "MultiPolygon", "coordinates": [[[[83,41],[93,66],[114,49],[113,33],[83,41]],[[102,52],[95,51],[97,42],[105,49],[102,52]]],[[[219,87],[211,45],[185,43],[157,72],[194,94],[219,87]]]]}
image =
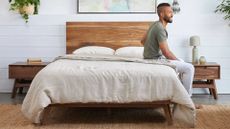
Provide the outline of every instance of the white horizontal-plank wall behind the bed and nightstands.
{"type": "MultiPolygon", "coordinates": [[[[191,61],[189,37],[201,37],[200,55],[221,65],[219,93],[230,93],[230,26],[214,10],[220,0],[179,0],[181,12],[168,26],[169,45],[175,54],[191,61]]],[[[156,14],[76,14],[76,0],[41,0],[39,15],[25,24],[9,12],[8,0],[0,0],[0,92],[11,92],[8,64],[40,57],[51,61],[65,54],[66,21],[153,21],[156,14]]],[[[204,93],[207,90],[195,90],[204,93]]]]}

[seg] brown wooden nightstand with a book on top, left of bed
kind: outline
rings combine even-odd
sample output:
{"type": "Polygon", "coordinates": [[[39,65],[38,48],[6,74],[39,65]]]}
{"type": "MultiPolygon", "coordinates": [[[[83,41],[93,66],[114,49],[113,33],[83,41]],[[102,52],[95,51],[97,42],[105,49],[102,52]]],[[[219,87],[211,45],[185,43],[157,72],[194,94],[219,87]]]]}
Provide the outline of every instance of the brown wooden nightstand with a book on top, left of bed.
{"type": "Polygon", "coordinates": [[[11,98],[15,98],[18,88],[20,89],[20,92],[22,92],[23,87],[29,87],[35,75],[46,65],[48,65],[48,62],[36,64],[16,62],[10,64],[9,78],[15,79],[11,98]]]}

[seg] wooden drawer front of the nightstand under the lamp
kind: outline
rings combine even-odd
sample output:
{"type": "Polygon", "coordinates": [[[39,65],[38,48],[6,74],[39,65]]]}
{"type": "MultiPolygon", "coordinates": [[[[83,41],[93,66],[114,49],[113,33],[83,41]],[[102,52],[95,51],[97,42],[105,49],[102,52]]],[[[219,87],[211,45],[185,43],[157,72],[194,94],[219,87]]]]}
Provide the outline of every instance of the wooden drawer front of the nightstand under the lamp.
{"type": "Polygon", "coordinates": [[[194,79],[219,79],[220,67],[196,67],[194,79]]]}

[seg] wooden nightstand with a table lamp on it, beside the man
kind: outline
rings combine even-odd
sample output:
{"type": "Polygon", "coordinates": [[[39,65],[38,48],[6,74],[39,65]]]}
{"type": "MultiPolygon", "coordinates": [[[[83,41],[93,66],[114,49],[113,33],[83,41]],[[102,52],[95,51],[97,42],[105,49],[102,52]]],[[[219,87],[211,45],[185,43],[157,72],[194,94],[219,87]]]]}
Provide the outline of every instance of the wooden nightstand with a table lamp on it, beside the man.
{"type": "Polygon", "coordinates": [[[215,79],[220,79],[220,65],[215,62],[193,64],[195,67],[193,88],[209,88],[209,92],[217,99],[215,79]]]}

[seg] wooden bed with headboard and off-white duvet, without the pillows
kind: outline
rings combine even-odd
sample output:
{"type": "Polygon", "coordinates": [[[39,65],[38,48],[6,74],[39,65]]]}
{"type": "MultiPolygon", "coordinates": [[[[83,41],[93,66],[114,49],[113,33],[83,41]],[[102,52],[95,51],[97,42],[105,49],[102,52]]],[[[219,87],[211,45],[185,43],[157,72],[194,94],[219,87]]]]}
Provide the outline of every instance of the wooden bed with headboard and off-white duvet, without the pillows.
{"type": "Polygon", "coordinates": [[[82,57],[83,55],[80,57],[72,55],[74,50],[85,46],[102,46],[114,50],[127,46],[141,46],[140,40],[150,24],[150,22],[67,22],[67,56],[56,59],[36,75],[23,101],[23,114],[33,123],[42,123],[46,110],[53,106],[162,107],[169,125],[175,118],[194,127],[194,104],[172,67],[151,61],[146,63],[143,59],[122,58],[121,61],[121,58],[117,57],[113,59],[110,56],[106,58],[99,56],[97,60],[92,60],[91,56],[86,59],[85,56],[82,57]],[[136,67],[140,70],[135,71],[136,67]],[[88,72],[84,72],[83,69],[88,72]],[[111,69],[114,70],[111,72],[111,69]],[[95,76],[93,70],[102,71],[99,72],[100,76],[104,76],[105,79],[101,79],[99,75],[95,76]],[[118,74],[118,71],[122,74],[118,74]],[[143,76],[137,76],[139,73],[143,76]],[[112,77],[114,75],[116,77],[112,77]],[[135,82],[136,80],[138,82],[135,82]],[[96,84],[88,84],[90,81],[96,84]],[[173,112],[170,108],[172,103],[173,112]]]}

